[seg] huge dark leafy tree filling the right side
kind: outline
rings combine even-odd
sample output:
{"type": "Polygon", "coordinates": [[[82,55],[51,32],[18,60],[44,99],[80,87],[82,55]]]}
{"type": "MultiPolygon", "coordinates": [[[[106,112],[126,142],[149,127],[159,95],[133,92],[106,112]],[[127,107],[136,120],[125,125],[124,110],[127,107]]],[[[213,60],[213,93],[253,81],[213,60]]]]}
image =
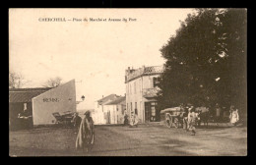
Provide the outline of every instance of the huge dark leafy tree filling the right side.
{"type": "Polygon", "coordinates": [[[246,108],[246,10],[197,9],[160,49],[159,108],[180,103],[246,108]]]}

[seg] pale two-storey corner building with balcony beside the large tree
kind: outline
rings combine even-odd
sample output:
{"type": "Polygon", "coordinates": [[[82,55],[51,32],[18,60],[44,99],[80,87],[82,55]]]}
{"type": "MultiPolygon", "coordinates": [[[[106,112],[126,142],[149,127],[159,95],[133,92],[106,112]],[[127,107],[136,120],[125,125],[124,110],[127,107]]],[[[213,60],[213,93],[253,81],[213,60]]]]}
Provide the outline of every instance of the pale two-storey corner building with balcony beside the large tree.
{"type": "Polygon", "coordinates": [[[160,121],[156,111],[158,82],[163,66],[145,67],[125,71],[126,109],[135,112],[142,123],[160,121]]]}

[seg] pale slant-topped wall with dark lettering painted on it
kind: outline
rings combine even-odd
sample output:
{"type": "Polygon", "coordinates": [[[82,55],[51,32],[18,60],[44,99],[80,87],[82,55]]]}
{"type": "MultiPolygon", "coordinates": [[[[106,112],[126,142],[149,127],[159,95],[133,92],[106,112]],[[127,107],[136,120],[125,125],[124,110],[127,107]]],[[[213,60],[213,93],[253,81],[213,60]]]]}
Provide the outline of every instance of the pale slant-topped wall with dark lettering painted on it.
{"type": "Polygon", "coordinates": [[[52,113],[76,112],[75,80],[52,88],[32,98],[32,119],[34,125],[53,124],[52,113]]]}

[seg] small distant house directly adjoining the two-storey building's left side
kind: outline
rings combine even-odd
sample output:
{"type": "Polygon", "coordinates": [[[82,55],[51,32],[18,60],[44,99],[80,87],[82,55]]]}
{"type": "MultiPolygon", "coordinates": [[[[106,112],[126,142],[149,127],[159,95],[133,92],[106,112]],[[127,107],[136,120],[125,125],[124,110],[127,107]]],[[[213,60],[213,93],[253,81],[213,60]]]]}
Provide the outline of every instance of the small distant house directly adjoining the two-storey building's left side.
{"type": "Polygon", "coordinates": [[[108,124],[122,124],[124,122],[125,102],[125,96],[123,96],[104,104],[104,112],[109,114],[108,124]]]}

